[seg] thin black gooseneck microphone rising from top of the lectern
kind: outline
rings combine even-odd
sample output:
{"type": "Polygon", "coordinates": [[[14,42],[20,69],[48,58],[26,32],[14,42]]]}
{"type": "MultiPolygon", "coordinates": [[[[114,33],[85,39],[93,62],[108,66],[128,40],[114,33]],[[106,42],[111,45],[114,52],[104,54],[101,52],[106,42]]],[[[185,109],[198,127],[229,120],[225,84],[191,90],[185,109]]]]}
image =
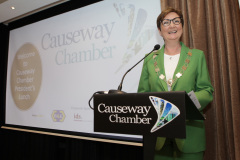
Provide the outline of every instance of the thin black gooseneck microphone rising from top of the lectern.
{"type": "Polygon", "coordinates": [[[149,52],[147,55],[145,55],[145,57],[143,57],[140,61],[138,61],[134,66],[132,66],[132,68],[127,70],[127,72],[122,77],[122,81],[119,84],[118,89],[117,90],[109,90],[108,93],[117,93],[117,94],[126,93],[126,92],[122,91],[122,84],[123,84],[123,80],[124,80],[125,76],[127,75],[127,73],[130,72],[134,67],[136,67],[142,60],[144,60],[147,56],[149,56],[153,51],[159,50],[159,48],[160,48],[160,45],[156,44],[151,52],[149,52]]]}

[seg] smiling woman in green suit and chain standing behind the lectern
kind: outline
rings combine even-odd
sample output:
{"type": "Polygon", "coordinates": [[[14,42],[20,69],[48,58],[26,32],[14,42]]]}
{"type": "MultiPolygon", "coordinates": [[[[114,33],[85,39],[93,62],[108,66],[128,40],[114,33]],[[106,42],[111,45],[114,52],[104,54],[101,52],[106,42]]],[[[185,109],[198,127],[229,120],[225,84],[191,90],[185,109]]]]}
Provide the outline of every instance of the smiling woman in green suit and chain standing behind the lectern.
{"type": "MultiPolygon", "coordinates": [[[[194,91],[202,112],[213,99],[213,87],[203,51],[180,42],[183,25],[179,10],[168,8],[158,16],[157,27],[165,44],[145,59],[138,92],[194,91]]],[[[204,122],[187,120],[186,139],[158,137],[155,159],[202,160],[204,150],[204,122]]]]}

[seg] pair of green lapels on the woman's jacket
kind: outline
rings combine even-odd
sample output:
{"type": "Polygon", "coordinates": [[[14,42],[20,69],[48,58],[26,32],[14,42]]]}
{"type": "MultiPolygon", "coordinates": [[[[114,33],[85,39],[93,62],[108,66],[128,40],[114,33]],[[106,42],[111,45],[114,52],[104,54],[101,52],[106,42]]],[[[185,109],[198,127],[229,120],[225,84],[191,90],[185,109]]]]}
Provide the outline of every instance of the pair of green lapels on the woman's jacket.
{"type": "MultiPolygon", "coordinates": [[[[181,71],[182,66],[184,65],[185,60],[187,58],[187,54],[188,54],[188,50],[189,50],[189,48],[186,47],[182,42],[180,42],[180,43],[181,43],[182,48],[181,48],[181,53],[180,53],[180,58],[179,58],[179,61],[178,61],[178,65],[177,65],[177,67],[174,71],[174,75],[173,75],[173,79],[176,79],[176,80],[173,82],[172,90],[174,90],[173,88],[177,84],[177,81],[178,81],[178,78],[176,78],[176,74],[181,71]]],[[[157,56],[157,63],[158,63],[158,67],[160,69],[160,75],[162,74],[166,77],[165,68],[164,68],[164,47],[165,47],[165,45],[155,54],[158,55],[157,56]]],[[[158,78],[158,79],[160,81],[160,86],[162,87],[163,91],[168,91],[167,83],[160,78],[158,78]]]]}

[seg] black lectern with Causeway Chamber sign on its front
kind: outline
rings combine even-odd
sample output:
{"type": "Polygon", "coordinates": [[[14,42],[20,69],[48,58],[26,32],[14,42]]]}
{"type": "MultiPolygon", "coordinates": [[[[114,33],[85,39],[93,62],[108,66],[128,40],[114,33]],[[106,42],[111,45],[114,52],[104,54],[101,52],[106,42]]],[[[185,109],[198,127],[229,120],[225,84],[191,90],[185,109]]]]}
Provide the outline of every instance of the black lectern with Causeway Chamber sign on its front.
{"type": "Polygon", "coordinates": [[[143,135],[144,160],[157,137],[186,138],[186,119],[203,120],[185,91],[94,95],[94,132],[143,135]]]}

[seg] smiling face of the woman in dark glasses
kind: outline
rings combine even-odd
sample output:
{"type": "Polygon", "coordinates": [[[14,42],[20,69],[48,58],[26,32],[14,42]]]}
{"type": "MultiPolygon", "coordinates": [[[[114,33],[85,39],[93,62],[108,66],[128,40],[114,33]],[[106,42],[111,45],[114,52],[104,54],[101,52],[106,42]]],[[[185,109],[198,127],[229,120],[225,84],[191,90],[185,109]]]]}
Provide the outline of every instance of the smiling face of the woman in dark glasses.
{"type": "MultiPolygon", "coordinates": [[[[177,13],[170,12],[164,17],[164,19],[174,19],[176,17],[179,17],[177,13]]],[[[165,40],[165,42],[179,41],[183,33],[182,23],[177,25],[171,21],[169,26],[163,26],[163,24],[161,23],[161,30],[158,29],[158,31],[165,40]]]]}

